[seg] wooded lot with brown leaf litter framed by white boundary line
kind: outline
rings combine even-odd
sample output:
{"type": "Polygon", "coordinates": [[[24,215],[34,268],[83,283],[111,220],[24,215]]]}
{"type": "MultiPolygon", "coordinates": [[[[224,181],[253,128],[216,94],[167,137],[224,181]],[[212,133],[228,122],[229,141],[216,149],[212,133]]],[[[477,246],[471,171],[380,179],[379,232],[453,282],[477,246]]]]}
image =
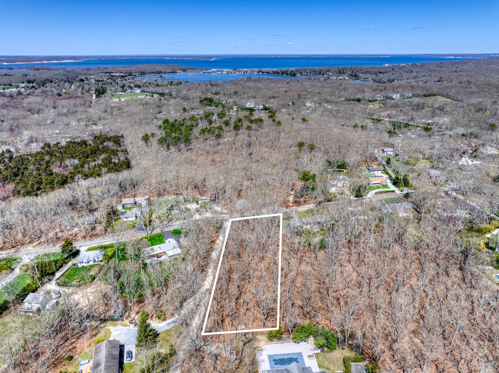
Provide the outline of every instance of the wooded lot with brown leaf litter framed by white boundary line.
{"type": "Polygon", "coordinates": [[[257,216],[249,216],[246,218],[233,218],[229,220],[229,227],[227,227],[227,232],[225,234],[224,246],[222,247],[222,254],[220,254],[219,265],[217,268],[217,273],[215,274],[215,282],[212,288],[212,295],[210,296],[210,302],[208,303],[208,309],[206,310],[205,323],[203,324],[203,331],[201,332],[202,336],[211,336],[216,334],[233,334],[233,333],[246,333],[246,332],[264,332],[267,330],[278,330],[279,329],[279,314],[280,314],[280,265],[281,265],[281,252],[282,252],[282,213],[280,214],[270,214],[270,215],[257,215],[257,216]],[[222,265],[222,259],[224,258],[225,246],[227,244],[227,238],[229,237],[229,231],[231,230],[231,223],[236,220],[247,220],[247,219],[256,219],[256,218],[270,218],[272,216],[280,216],[280,225],[279,225],[279,272],[277,276],[277,327],[275,328],[264,328],[264,329],[246,329],[246,330],[231,330],[228,332],[211,332],[205,333],[206,323],[208,322],[208,315],[210,314],[210,308],[212,306],[213,295],[215,294],[215,286],[217,285],[218,274],[220,272],[220,267],[222,265]]]}

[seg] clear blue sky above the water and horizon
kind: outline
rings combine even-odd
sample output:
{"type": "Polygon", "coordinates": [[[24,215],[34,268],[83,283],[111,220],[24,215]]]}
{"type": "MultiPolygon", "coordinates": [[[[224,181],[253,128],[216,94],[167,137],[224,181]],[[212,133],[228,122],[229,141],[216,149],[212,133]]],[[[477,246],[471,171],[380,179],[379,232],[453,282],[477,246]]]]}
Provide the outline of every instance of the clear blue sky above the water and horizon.
{"type": "Polygon", "coordinates": [[[0,55],[499,52],[499,1],[0,0],[0,55]]]}

